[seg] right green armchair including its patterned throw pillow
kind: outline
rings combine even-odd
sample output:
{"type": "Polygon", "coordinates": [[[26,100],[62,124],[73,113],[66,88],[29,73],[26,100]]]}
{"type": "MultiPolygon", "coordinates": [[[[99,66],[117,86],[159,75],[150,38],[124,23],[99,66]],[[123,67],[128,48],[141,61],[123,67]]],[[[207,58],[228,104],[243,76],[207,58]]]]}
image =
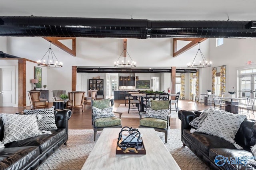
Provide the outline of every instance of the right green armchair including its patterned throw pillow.
{"type": "Polygon", "coordinates": [[[139,128],[154,128],[158,132],[164,132],[165,142],[168,138],[168,127],[170,123],[171,101],[151,100],[151,106],[146,112],[139,113],[139,128]],[[144,115],[144,118],[142,118],[144,115]]]}

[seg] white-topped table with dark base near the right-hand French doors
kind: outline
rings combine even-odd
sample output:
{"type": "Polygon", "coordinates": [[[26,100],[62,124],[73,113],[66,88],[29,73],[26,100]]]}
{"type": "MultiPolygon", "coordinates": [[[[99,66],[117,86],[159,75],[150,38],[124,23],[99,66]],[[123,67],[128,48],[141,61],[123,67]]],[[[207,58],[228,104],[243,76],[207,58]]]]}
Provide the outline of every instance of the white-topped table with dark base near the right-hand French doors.
{"type": "Polygon", "coordinates": [[[248,98],[243,98],[243,97],[219,97],[220,99],[225,100],[226,107],[225,111],[238,114],[238,101],[233,101],[233,100],[248,100],[248,98]],[[229,100],[229,101],[227,101],[229,100]]]}

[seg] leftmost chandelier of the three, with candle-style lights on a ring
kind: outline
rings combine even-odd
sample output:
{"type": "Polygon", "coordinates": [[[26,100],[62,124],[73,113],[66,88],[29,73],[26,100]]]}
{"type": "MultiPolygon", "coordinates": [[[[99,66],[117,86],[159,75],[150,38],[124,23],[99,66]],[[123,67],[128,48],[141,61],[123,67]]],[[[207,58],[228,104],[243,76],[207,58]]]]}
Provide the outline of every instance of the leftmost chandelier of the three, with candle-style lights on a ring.
{"type": "Polygon", "coordinates": [[[57,57],[55,56],[54,52],[51,48],[51,41],[50,41],[50,47],[44,54],[41,60],[37,61],[37,65],[42,67],[62,67],[62,62],[59,62],[57,57]],[[48,54],[48,55],[46,55],[48,54]],[[45,57],[45,58],[44,58],[45,57]]]}

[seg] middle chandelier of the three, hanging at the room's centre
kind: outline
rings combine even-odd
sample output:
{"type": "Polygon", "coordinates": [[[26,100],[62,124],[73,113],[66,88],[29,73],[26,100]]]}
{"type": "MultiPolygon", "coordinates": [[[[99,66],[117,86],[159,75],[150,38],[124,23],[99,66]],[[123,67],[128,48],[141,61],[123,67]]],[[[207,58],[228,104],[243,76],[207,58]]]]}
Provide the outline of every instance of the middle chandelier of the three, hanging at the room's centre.
{"type": "Polygon", "coordinates": [[[129,55],[128,51],[126,50],[127,46],[127,39],[124,39],[124,50],[122,51],[121,55],[124,54],[124,59],[120,59],[121,55],[118,57],[117,61],[114,62],[115,67],[127,68],[127,67],[136,67],[136,62],[134,62],[129,55]],[[130,60],[126,60],[126,53],[130,57],[130,60]]]}

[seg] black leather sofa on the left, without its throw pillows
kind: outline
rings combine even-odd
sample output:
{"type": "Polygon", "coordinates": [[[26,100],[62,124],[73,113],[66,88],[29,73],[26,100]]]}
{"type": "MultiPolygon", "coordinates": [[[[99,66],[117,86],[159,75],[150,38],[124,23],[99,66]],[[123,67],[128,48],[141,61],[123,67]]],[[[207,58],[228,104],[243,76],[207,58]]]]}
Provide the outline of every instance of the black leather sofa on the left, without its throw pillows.
{"type": "MultiPolygon", "coordinates": [[[[52,134],[46,134],[18,140],[5,144],[0,148],[1,170],[35,170],[55,150],[68,140],[68,119],[72,112],[69,109],[55,110],[55,123],[57,130],[51,130],[52,134]]],[[[4,138],[4,125],[0,118],[0,141],[4,138]]]]}

